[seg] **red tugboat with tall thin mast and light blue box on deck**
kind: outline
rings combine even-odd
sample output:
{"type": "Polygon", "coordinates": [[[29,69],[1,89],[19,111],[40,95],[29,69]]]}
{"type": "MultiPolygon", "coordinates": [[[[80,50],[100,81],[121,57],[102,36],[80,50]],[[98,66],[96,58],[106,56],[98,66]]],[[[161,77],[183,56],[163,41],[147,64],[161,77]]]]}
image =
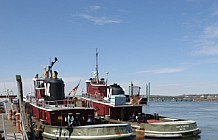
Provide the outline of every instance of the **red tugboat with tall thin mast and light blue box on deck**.
{"type": "MultiPolygon", "coordinates": [[[[126,102],[120,85],[115,83],[108,86],[103,78],[99,80],[97,57],[96,51],[96,72],[86,80],[86,92],[81,97],[82,106],[95,108],[96,117],[111,123],[128,123],[136,132],[136,137],[179,138],[201,133],[195,121],[168,118],[156,113],[146,114],[136,98],[134,102],[126,102]]],[[[131,84],[131,91],[133,87],[131,84]]]]}

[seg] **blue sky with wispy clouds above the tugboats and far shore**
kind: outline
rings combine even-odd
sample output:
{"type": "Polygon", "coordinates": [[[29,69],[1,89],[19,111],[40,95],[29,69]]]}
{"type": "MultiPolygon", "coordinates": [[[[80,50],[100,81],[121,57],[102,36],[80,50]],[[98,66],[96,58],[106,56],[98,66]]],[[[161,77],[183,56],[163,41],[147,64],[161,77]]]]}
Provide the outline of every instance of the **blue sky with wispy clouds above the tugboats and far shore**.
{"type": "Polygon", "coordinates": [[[0,93],[24,94],[32,78],[53,70],[65,93],[95,70],[109,84],[151,83],[151,95],[218,93],[216,0],[1,0],[0,93]],[[108,74],[106,74],[108,72],[108,74]]]}

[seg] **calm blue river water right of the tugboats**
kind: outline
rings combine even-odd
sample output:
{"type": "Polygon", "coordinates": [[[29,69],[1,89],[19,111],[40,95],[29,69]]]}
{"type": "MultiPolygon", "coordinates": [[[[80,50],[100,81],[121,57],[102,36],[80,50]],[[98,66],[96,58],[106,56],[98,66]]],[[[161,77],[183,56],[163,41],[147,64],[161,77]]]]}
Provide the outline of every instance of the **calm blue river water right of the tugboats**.
{"type": "Polygon", "coordinates": [[[196,121],[200,137],[182,140],[218,139],[218,102],[150,102],[143,106],[143,112],[196,121]]]}

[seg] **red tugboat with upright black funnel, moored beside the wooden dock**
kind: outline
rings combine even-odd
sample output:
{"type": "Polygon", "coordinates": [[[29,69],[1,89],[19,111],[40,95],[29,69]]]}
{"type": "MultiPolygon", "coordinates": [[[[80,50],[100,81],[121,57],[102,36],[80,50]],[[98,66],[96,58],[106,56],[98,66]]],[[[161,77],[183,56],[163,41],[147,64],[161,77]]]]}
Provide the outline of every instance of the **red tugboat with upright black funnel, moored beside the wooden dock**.
{"type": "Polygon", "coordinates": [[[92,107],[77,107],[65,98],[64,81],[52,71],[57,58],[44,67],[43,77],[33,78],[35,98],[31,98],[30,115],[37,139],[132,139],[129,124],[110,124],[94,117],[92,107]]]}

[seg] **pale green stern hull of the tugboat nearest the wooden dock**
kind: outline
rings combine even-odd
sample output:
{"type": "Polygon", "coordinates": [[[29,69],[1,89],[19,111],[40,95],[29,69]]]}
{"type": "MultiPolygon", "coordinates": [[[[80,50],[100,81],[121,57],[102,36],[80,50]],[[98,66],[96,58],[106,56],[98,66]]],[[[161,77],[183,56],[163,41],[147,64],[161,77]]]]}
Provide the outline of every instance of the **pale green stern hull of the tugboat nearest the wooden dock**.
{"type": "Polygon", "coordinates": [[[99,124],[75,127],[44,126],[43,140],[116,140],[135,137],[130,125],[127,124],[99,124]]]}

